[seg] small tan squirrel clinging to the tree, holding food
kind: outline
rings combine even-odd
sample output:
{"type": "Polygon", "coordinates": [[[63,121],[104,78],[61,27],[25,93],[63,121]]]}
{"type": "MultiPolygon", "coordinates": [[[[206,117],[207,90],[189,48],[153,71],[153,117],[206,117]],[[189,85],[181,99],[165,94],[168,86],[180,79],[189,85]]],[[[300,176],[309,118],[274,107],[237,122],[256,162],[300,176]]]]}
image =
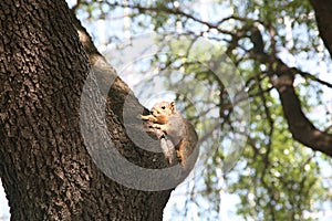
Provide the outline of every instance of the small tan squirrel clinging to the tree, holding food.
{"type": "Polygon", "coordinates": [[[180,166],[185,168],[187,158],[197,145],[198,136],[194,126],[176,110],[175,103],[157,103],[153,106],[149,115],[141,115],[141,118],[154,123],[153,128],[160,129],[170,137],[180,166]]]}

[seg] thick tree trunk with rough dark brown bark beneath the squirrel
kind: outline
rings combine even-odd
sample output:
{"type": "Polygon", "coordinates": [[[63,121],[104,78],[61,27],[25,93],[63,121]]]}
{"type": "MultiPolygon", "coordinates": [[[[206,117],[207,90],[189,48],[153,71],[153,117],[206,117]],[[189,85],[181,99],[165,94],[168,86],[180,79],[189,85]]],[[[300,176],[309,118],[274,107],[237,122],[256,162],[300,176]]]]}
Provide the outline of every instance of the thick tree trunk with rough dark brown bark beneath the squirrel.
{"type": "MultiPolygon", "coordinates": [[[[128,101],[133,109],[139,104],[131,95],[128,99],[129,90],[91,44],[64,1],[0,2],[0,177],[12,220],[162,220],[169,189],[179,179],[168,189],[136,190],[126,180],[110,179],[97,161],[103,157],[102,162],[112,161],[118,151],[142,167],[165,166],[160,154],[142,150],[128,138],[123,104],[128,101]],[[91,73],[106,78],[103,84],[92,80],[100,87],[92,96],[105,92],[108,81],[113,83],[105,106],[110,134],[102,134],[111,137],[113,146],[105,147],[107,154],[101,158],[91,155],[94,149],[86,147],[82,135],[82,117],[91,123],[87,129],[98,129],[94,103],[86,102],[84,108],[81,104],[91,73]]],[[[142,131],[135,124],[127,125],[142,131]]],[[[118,171],[131,173],[128,168],[118,171]]]]}

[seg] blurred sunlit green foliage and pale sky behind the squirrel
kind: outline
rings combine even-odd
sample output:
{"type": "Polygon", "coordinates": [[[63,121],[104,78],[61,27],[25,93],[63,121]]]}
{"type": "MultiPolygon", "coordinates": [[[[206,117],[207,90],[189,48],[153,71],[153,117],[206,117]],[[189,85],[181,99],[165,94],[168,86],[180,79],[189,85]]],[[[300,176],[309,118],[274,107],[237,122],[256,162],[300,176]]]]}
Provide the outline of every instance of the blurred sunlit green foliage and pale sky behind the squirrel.
{"type": "Polygon", "coordinates": [[[302,109],[329,131],[331,87],[318,78],[329,81],[332,63],[308,0],[69,3],[143,104],[158,92],[174,92],[199,131],[200,167],[174,192],[165,220],[332,218],[331,158],[292,138],[260,59],[272,54],[298,69],[302,109]],[[146,45],[154,53],[126,60],[126,49],[151,32],[156,34],[146,45]],[[197,45],[206,48],[193,46],[201,39],[209,43],[197,45]],[[240,76],[246,101],[228,91],[231,75],[225,73],[240,76]],[[246,102],[246,113],[236,109],[246,102]],[[242,115],[249,115],[245,126],[237,118],[242,115]]]}

